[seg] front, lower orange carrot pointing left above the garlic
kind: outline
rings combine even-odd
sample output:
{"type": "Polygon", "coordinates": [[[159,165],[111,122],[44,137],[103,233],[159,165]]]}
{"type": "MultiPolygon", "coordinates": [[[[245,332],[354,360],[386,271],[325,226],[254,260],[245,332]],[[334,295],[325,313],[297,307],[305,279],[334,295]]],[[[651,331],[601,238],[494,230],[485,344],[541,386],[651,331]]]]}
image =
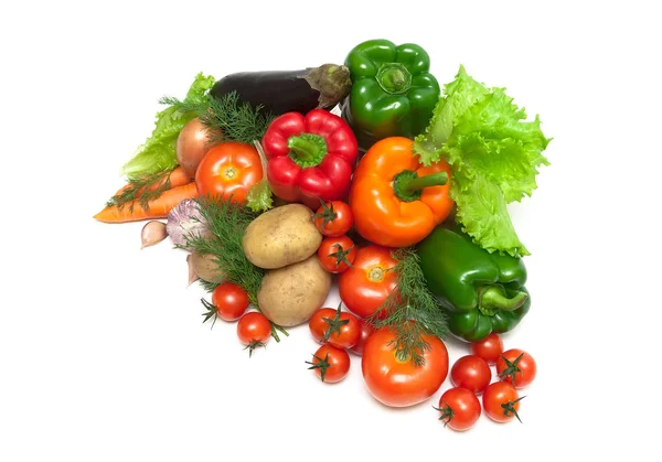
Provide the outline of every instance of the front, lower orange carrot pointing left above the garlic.
{"type": "Polygon", "coordinates": [[[163,192],[159,197],[148,202],[149,208],[140,205],[139,201],[132,201],[121,207],[110,205],[94,216],[95,219],[104,223],[126,223],[139,222],[141,219],[167,218],[168,214],[177,204],[184,198],[197,196],[195,182],[190,182],[183,186],[177,186],[163,192]]]}

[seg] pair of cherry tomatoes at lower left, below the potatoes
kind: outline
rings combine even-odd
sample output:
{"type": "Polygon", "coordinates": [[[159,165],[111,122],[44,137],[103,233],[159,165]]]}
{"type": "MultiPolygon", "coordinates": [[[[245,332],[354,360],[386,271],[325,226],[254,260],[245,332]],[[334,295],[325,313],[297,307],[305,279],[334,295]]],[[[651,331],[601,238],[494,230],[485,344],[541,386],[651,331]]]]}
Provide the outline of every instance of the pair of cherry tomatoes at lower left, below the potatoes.
{"type": "MultiPolygon", "coordinates": [[[[204,302],[204,301],[203,301],[204,302]]],[[[207,313],[204,314],[207,321],[211,318],[220,318],[226,322],[239,320],[237,323],[237,336],[239,342],[248,350],[248,355],[259,346],[265,346],[271,336],[271,323],[257,311],[246,313],[249,300],[248,293],[239,286],[232,282],[224,282],[216,286],[212,292],[212,303],[204,302],[207,313]]]]}

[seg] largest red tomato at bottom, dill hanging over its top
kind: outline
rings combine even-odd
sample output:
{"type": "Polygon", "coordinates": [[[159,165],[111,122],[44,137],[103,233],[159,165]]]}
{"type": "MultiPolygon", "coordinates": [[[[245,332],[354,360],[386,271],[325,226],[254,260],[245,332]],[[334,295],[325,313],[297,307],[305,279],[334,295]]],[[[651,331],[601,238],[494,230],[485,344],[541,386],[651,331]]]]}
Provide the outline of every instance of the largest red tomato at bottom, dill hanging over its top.
{"type": "Polygon", "coordinates": [[[433,396],[448,375],[448,351],[438,337],[424,335],[430,345],[423,353],[424,365],[399,358],[394,348],[396,333],[391,329],[375,331],[365,342],[361,370],[369,391],[386,406],[417,405],[433,396]]]}

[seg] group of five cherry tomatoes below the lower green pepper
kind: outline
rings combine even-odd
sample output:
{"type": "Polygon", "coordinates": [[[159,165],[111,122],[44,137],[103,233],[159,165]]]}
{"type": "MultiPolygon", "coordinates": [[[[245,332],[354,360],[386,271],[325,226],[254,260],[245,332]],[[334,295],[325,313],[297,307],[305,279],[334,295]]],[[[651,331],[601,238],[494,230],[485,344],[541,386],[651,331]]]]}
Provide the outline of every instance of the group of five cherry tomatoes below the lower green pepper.
{"type": "Polygon", "coordinates": [[[477,397],[481,394],[482,409],[490,419],[495,422],[520,420],[517,411],[524,396],[520,396],[519,389],[531,385],[535,375],[533,356],[519,348],[503,351],[503,341],[492,333],[472,343],[471,354],[452,365],[453,387],[441,395],[439,407],[435,408],[441,412],[439,420],[457,431],[470,429],[482,413],[477,397]],[[490,365],[495,367],[494,377],[490,365]]]}

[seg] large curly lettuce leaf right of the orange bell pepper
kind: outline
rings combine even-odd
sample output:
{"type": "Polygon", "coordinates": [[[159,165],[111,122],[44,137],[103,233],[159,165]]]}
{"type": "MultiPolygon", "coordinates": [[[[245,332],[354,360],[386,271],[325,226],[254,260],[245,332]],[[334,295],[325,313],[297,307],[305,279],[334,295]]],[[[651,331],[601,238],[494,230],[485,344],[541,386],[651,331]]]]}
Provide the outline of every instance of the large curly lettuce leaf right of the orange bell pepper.
{"type": "Polygon", "coordinates": [[[538,117],[526,121],[504,88],[488,88],[460,66],[445,86],[430,125],[414,142],[421,163],[441,158],[451,165],[451,197],[457,221],[488,251],[530,255],[519,239],[506,205],[537,187],[542,152],[551,139],[538,117]]]}

